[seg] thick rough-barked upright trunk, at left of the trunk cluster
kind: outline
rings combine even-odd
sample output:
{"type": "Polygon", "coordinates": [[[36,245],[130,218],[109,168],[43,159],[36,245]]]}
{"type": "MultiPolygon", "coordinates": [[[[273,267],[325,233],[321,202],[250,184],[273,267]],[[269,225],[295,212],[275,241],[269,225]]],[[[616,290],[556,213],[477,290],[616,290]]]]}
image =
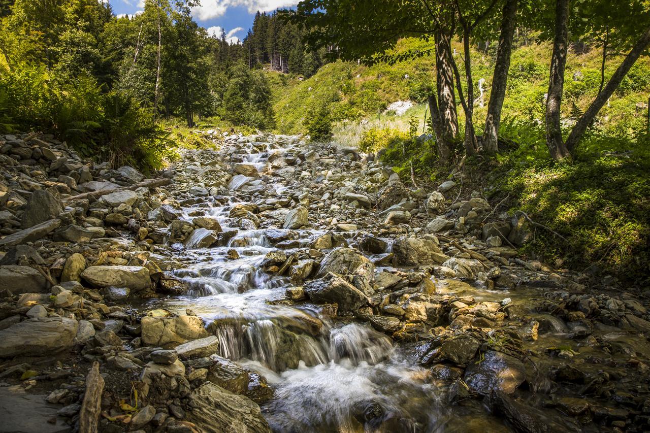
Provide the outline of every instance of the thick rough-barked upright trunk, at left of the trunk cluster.
{"type": "Polygon", "coordinates": [[[458,136],[458,115],[456,114],[452,54],[447,37],[441,32],[435,33],[435,70],[438,91],[437,105],[441,114],[443,132],[446,137],[456,138],[458,136]]]}

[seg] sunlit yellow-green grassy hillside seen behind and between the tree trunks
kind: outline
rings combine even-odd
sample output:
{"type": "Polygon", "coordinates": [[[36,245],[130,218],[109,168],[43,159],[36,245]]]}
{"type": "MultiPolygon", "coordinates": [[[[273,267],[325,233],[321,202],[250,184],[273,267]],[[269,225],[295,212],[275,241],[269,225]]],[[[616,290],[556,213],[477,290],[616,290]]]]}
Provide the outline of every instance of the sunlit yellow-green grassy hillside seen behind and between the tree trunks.
{"type": "MultiPolygon", "coordinates": [[[[398,42],[395,52],[432,48],[433,42],[408,38],[398,42]]],[[[457,61],[461,64],[460,44],[455,48],[457,61]]],[[[477,97],[475,118],[479,132],[487,110],[494,55],[495,47],[487,52],[472,52],[474,94],[477,97]],[[478,99],[480,79],[486,81],[483,107],[478,99]]],[[[562,113],[565,118],[584,111],[597,93],[601,75],[600,56],[599,49],[584,53],[569,52],[562,113]]],[[[513,51],[504,118],[531,122],[543,118],[550,59],[550,44],[528,44],[513,51]]],[[[619,61],[619,57],[608,60],[606,77],[616,70],[619,61]]],[[[305,115],[311,107],[323,103],[330,105],[333,118],[341,123],[376,118],[378,110],[383,111],[393,101],[410,99],[414,103],[421,103],[433,85],[433,70],[434,58],[428,55],[393,66],[377,64],[367,67],[338,61],[323,66],[313,77],[304,81],[299,77],[269,72],[278,130],[285,133],[303,131],[305,115]]],[[[632,68],[619,90],[603,108],[597,125],[617,137],[642,129],[645,125],[642,105],[647,103],[648,96],[650,59],[645,57],[632,68]]],[[[458,111],[462,117],[460,104],[458,111]]],[[[413,114],[423,112],[409,112],[407,116],[413,114]]],[[[402,127],[406,127],[406,122],[402,122],[402,127]]]]}

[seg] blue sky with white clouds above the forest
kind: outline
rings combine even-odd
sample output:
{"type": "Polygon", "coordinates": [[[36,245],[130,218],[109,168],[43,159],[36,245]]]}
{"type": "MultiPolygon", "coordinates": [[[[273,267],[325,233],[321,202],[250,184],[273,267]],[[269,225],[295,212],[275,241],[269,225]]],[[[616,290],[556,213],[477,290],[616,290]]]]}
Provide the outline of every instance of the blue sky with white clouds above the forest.
{"type": "MultiPolygon", "coordinates": [[[[194,20],[209,33],[226,31],[230,42],[242,40],[253,25],[255,12],[271,12],[277,8],[295,6],[299,0],[201,0],[192,8],[194,20]]],[[[144,0],[109,0],[116,15],[136,14],[144,7],[144,0]]]]}

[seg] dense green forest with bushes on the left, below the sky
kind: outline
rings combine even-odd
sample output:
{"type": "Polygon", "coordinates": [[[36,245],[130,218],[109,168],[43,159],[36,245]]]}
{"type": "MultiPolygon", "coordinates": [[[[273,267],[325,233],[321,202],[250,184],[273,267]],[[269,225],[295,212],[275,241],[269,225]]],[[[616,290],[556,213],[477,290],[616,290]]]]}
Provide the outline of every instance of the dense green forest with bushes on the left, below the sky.
{"type": "Polygon", "coordinates": [[[41,127],[85,155],[159,166],[169,142],[159,119],[218,116],[274,126],[263,65],[313,75],[322,60],[298,26],[257,14],[242,44],[209,35],[191,1],[147,0],[115,16],[95,0],[4,2],[0,124],[41,127]]]}

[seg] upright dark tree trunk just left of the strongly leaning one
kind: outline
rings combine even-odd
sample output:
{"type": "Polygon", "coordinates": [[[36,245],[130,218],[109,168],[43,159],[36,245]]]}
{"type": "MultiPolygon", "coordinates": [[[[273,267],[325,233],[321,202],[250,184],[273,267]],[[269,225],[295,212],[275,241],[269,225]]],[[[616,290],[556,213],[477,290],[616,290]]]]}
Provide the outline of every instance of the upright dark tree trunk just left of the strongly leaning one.
{"type": "Polygon", "coordinates": [[[571,157],[562,140],[560,128],[560,107],[562,106],[562,89],[564,88],[564,68],[567,62],[567,20],[569,18],[569,0],[556,0],[555,38],[551,56],[551,76],[549,93],[546,99],[546,144],[551,157],[556,160],[571,157]]]}

